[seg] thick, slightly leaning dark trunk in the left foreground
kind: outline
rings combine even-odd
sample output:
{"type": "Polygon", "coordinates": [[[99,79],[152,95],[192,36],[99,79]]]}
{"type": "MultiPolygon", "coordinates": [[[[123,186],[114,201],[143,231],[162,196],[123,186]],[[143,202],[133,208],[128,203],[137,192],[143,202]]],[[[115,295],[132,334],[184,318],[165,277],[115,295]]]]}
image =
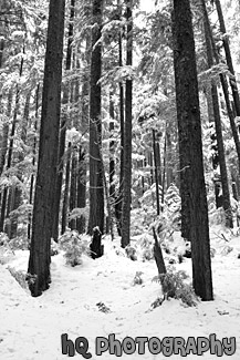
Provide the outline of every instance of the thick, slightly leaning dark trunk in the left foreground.
{"type": "Polygon", "coordinates": [[[28,268],[29,288],[34,297],[42,295],[51,282],[50,249],[59,151],[64,12],[64,0],[50,0],[39,163],[28,268]]]}

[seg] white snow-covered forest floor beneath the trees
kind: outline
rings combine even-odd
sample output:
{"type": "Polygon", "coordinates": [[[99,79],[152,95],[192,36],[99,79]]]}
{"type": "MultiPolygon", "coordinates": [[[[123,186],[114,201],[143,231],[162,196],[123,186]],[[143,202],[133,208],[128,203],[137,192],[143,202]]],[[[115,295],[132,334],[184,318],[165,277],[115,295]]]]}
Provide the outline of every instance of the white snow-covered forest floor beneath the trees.
{"type": "MultiPolygon", "coordinates": [[[[83,256],[83,264],[74,268],[65,265],[63,254],[52,257],[51,287],[38,298],[20,287],[7,269],[10,266],[25,271],[28,251],[15,251],[15,256],[0,266],[1,360],[66,359],[61,347],[63,333],[73,341],[84,337],[92,359],[104,360],[117,357],[109,350],[97,356],[96,337],[108,339],[114,333],[121,342],[125,337],[156,337],[160,341],[167,337],[182,337],[187,341],[188,337],[209,339],[216,333],[220,341],[232,337],[237,341],[234,353],[223,353],[221,359],[240,359],[240,237],[230,239],[228,246],[233,249],[225,255],[226,240],[220,230],[211,232],[211,246],[217,250],[212,258],[215,301],[199,302],[196,307],[170,299],[153,308],[152,304],[161,296],[159,284],[152,281],[157,275],[155,261],[132,261],[116,255],[118,245],[114,247],[107,238],[104,246],[102,258],[93,260],[83,256]],[[136,271],[143,272],[140,285],[133,282],[136,271]]],[[[191,260],[185,259],[176,268],[191,275],[191,260]]],[[[102,346],[107,344],[104,341],[102,346]]],[[[145,348],[145,353],[139,354],[137,344],[134,353],[123,351],[122,358],[166,359],[164,351],[153,354],[147,343],[145,348]]],[[[210,349],[202,357],[205,360],[218,358],[210,349]]],[[[77,352],[74,358],[84,359],[77,352]]],[[[181,356],[173,354],[171,358],[181,359],[181,356]]],[[[187,358],[199,359],[199,356],[190,352],[187,358]]]]}

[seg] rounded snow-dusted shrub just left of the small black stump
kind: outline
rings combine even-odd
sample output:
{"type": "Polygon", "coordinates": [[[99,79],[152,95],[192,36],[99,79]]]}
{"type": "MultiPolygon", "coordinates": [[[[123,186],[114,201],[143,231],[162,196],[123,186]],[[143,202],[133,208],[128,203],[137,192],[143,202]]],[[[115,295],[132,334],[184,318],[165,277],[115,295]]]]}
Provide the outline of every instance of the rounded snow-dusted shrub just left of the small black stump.
{"type": "Polygon", "coordinates": [[[66,264],[76,266],[82,264],[82,255],[90,254],[88,243],[76,230],[65,232],[60,238],[60,247],[65,251],[66,264]]]}

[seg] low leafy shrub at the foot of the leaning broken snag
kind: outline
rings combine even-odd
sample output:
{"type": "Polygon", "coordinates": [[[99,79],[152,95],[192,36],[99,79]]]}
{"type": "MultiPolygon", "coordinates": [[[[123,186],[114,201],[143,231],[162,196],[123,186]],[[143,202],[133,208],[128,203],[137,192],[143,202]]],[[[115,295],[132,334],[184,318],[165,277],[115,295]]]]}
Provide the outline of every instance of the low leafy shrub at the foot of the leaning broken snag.
{"type": "Polygon", "coordinates": [[[192,287],[185,282],[187,278],[188,275],[185,271],[176,271],[175,267],[169,266],[167,268],[167,274],[161,274],[153,280],[160,282],[165,299],[180,299],[187,306],[196,306],[198,297],[192,287]]]}

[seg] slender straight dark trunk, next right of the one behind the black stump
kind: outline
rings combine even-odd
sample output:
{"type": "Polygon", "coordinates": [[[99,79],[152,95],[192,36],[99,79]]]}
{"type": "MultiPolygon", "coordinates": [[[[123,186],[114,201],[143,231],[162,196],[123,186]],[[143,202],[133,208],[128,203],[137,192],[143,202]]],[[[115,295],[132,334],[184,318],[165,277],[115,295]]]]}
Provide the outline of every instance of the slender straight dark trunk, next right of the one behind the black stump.
{"type": "MultiPolygon", "coordinates": [[[[133,0],[126,0],[126,65],[133,64],[133,0]]],[[[131,189],[132,189],[132,109],[133,80],[126,80],[125,90],[125,126],[124,126],[124,184],[122,209],[122,247],[131,241],[131,189]]]]}

